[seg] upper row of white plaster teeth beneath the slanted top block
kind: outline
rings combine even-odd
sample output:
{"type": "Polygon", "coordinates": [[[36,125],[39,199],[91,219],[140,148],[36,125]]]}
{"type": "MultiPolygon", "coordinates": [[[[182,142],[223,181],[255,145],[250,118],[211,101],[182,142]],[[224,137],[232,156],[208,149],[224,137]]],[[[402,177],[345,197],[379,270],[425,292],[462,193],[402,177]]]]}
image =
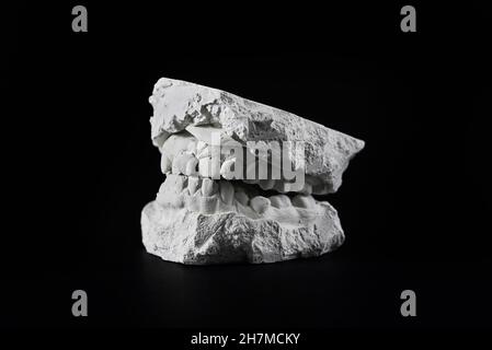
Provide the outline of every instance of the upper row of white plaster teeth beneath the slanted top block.
{"type": "MultiPolygon", "coordinates": [[[[163,174],[195,176],[202,178],[231,178],[230,172],[236,159],[225,160],[220,166],[215,166],[210,158],[210,147],[203,141],[191,142],[188,150],[176,154],[172,160],[164,153],[161,158],[163,174]]],[[[295,184],[283,179],[244,179],[247,184],[256,184],[264,190],[274,189],[281,194],[293,191],[295,184]]],[[[305,195],[312,194],[312,185],[305,183],[302,189],[296,190],[305,195]]]]}

